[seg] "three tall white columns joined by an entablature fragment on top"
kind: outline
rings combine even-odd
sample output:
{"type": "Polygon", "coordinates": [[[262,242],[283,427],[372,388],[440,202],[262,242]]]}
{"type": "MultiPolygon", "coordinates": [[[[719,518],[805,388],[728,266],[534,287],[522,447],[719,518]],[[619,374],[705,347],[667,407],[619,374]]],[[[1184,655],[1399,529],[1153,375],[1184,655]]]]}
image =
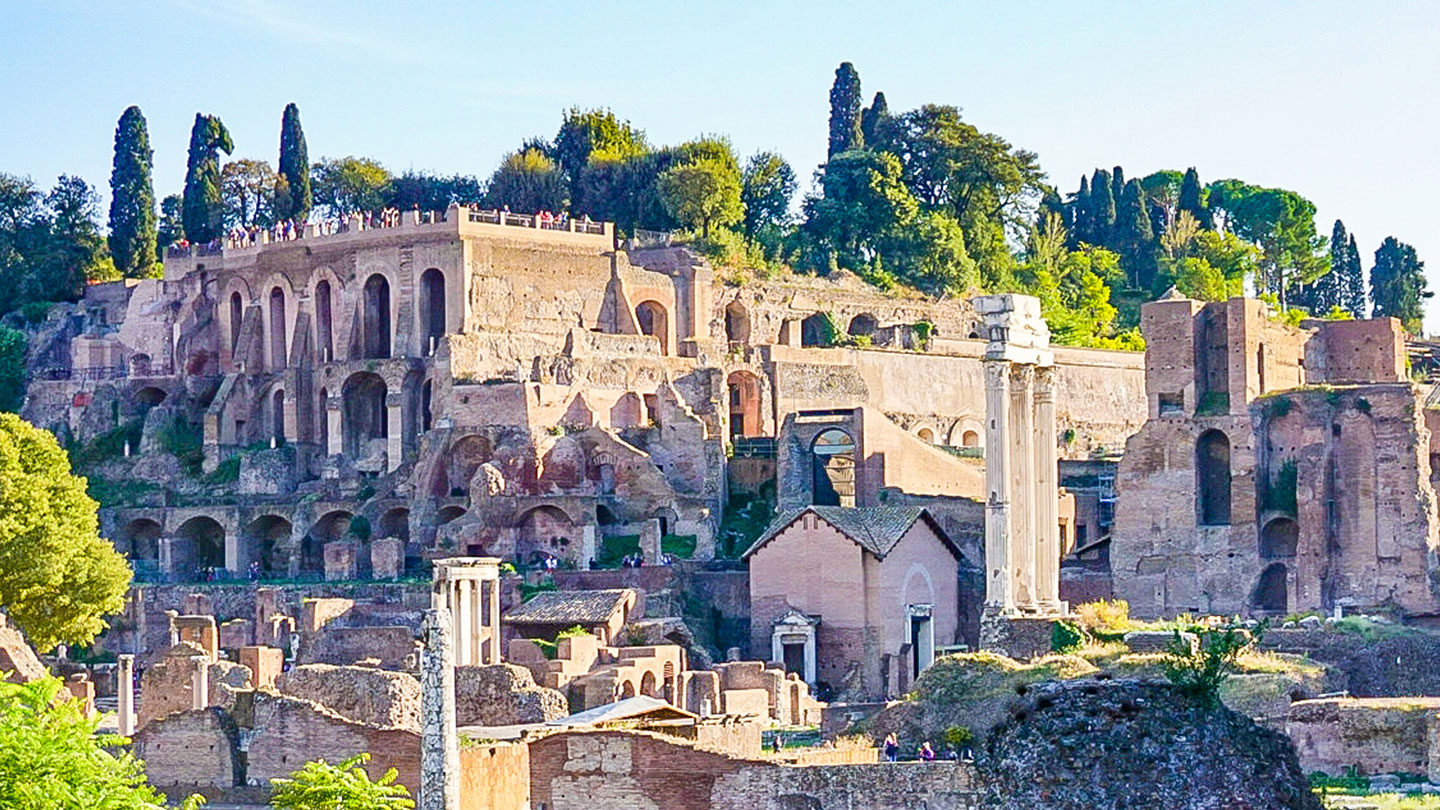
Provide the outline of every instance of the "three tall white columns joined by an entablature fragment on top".
{"type": "Polygon", "coordinates": [[[1040,300],[981,295],[985,350],[985,610],[1066,611],[1060,601],[1056,368],[1040,300]]]}

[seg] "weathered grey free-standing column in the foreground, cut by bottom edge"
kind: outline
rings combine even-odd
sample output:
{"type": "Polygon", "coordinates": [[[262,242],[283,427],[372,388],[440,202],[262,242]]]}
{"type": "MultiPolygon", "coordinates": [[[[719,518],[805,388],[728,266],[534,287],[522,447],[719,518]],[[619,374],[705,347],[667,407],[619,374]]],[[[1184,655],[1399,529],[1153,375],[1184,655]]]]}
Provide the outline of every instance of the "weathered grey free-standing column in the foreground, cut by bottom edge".
{"type": "Polygon", "coordinates": [[[459,738],[455,731],[455,662],[451,611],[425,613],[420,653],[419,810],[459,810],[459,738]]]}

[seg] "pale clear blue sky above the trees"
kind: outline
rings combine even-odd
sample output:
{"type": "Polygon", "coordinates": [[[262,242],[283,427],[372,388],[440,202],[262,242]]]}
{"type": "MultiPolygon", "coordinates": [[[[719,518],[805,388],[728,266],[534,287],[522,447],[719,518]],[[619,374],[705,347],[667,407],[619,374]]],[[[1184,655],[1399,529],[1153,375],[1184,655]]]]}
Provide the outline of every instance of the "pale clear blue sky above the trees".
{"type": "Polygon", "coordinates": [[[104,192],[130,104],[157,193],[180,189],[196,111],[226,123],[236,156],[274,161],[289,101],[311,159],[396,172],[487,176],[582,105],[654,143],[776,148],[808,179],[851,61],[867,97],[959,105],[1063,192],[1097,166],[1197,166],[1303,193],[1367,267],[1392,233],[1440,268],[1440,3],[0,0],[0,172],[42,184],[78,173],[104,192]]]}

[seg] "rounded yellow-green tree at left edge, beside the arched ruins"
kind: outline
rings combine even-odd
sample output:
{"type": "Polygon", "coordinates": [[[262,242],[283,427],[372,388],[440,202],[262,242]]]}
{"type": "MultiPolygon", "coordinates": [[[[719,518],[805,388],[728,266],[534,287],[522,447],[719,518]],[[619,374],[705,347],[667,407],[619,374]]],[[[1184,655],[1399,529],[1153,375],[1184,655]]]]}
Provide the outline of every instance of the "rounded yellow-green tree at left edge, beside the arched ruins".
{"type": "Polygon", "coordinates": [[[85,644],[124,607],[125,558],[101,539],[85,479],[49,431],[0,414],[0,608],[46,651],[85,644]]]}

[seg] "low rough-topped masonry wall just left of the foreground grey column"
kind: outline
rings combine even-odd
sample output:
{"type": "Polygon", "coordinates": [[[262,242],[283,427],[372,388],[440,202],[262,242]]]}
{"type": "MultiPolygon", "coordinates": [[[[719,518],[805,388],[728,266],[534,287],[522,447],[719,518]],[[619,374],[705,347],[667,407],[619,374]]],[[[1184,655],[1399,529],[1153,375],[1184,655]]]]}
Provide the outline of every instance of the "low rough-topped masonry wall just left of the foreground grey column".
{"type": "Polygon", "coordinates": [[[282,695],[312,700],[354,722],[420,729],[420,683],[403,672],[302,664],[281,675],[275,687],[282,695]]]}

